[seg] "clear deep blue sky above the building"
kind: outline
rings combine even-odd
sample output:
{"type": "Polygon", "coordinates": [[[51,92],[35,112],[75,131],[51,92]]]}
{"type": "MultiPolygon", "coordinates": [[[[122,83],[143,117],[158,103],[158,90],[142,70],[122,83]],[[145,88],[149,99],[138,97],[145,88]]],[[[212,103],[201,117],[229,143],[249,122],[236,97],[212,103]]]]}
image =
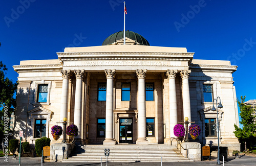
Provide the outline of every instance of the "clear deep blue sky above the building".
{"type": "MultiPolygon", "coordinates": [[[[237,97],[256,99],[256,1],[126,1],[126,30],[154,46],[187,48],[194,59],[230,60],[237,97]]],[[[101,45],[123,30],[123,1],[1,1],[0,61],[57,59],[68,46],[101,45]],[[80,36],[80,37],[79,37],[80,36]],[[74,39],[79,38],[74,42],[74,39]]]]}

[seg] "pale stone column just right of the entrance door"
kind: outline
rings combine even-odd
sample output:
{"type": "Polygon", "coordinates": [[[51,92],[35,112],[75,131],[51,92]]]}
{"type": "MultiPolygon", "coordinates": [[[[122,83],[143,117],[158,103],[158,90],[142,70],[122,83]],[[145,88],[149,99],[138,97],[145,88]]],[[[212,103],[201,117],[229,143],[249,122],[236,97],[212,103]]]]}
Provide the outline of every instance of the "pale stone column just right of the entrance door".
{"type": "Polygon", "coordinates": [[[137,69],[138,77],[138,140],[136,144],[147,145],[146,140],[146,100],[145,100],[145,74],[146,70],[137,69]]]}

